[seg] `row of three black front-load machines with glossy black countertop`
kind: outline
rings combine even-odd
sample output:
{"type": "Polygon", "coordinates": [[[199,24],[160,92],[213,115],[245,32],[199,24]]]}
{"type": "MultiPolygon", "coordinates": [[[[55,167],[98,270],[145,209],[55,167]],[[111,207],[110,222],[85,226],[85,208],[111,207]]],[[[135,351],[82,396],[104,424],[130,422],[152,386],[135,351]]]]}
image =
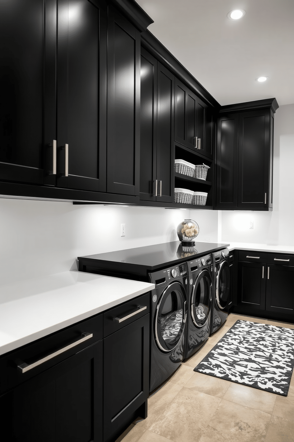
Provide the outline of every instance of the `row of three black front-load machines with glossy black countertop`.
{"type": "Polygon", "coordinates": [[[231,276],[223,244],[197,243],[194,253],[179,254],[176,242],[78,259],[79,270],[155,285],[150,297],[150,392],[227,319],[231,276]]]}

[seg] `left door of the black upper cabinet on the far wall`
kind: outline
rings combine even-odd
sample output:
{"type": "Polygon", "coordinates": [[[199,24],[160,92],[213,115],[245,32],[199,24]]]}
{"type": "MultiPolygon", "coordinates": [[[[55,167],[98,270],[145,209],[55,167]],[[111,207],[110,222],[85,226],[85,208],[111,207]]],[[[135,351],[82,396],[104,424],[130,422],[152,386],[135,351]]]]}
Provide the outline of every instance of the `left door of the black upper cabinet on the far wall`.
{"type": "Polygon", "coordinates": [[[223,115],[217,122],[216,207],[237,207],[238,114],[223,115]]]}

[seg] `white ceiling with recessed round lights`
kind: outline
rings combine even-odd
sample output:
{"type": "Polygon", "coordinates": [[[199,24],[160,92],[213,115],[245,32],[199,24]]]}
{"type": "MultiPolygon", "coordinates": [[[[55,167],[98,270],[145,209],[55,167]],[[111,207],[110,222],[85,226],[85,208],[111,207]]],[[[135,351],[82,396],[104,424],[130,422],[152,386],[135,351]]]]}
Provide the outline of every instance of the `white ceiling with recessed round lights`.
{"type": "Polygon", "coordinates": [[[148,29],[223,106],[294,103],[294,0],[137,0],[148,29]],[[232,9],[246,15],[227,18],[232,9]],[[258,83],[259,76],[268,76],[258,83]]]}

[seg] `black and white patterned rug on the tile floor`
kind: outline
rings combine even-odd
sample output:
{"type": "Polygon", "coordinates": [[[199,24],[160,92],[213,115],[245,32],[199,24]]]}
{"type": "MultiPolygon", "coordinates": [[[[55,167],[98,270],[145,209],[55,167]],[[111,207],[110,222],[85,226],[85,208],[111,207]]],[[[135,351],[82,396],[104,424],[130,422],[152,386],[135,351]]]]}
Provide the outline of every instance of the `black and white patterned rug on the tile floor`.
{"type": "Polygon", "coordinates": [[[287,396],[294,330],[237,320],[194,371],[287,396]]]}

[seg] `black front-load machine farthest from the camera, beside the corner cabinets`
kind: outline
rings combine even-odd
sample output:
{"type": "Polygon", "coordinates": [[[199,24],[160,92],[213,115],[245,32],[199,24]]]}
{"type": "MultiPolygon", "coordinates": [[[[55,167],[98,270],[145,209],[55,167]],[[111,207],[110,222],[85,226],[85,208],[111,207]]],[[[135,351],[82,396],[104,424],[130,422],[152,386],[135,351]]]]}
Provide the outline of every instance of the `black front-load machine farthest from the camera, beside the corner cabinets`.
{"type": "Polygon", "coordinates": [[[210,333],[215,333],[227,320],[231,292],[231,272],[228,249],[212,253],[214,290],[210,333]]]}

